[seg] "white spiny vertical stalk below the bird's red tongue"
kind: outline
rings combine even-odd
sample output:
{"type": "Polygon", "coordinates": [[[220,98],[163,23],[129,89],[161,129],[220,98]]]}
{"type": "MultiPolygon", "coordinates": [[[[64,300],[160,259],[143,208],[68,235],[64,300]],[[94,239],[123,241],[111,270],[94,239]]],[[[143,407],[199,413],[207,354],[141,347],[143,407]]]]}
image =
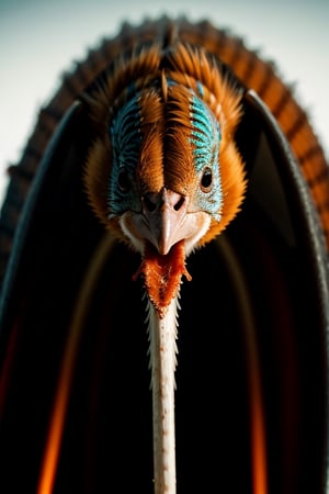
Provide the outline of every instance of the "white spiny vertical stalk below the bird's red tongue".
{"type": "Polygon", "coordinates": [[[154,416],[155,494],[175,494],[174,370],[177,364],[177,315],[173,299],[160,318],[148,303],[148,332],[154,416]]]}

